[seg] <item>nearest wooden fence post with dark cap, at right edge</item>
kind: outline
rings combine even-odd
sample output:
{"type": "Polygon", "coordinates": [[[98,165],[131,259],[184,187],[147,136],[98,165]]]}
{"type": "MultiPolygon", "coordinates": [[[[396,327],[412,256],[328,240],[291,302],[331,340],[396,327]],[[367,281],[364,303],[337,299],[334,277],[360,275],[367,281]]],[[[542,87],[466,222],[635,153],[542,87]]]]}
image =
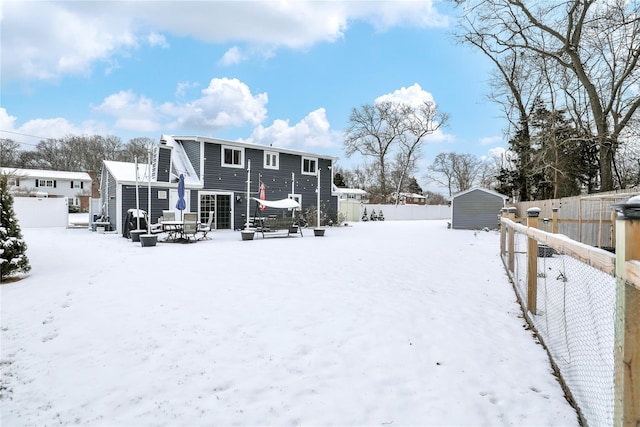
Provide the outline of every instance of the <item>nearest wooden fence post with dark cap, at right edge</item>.
{"type": "Polygon", "coordinates": [[[640,425],[640,289],[637,283],[627,283],[626,262],[640,260],[640,197],[613,207],[618,212],[614,426],[636,427],[640,425]]]}

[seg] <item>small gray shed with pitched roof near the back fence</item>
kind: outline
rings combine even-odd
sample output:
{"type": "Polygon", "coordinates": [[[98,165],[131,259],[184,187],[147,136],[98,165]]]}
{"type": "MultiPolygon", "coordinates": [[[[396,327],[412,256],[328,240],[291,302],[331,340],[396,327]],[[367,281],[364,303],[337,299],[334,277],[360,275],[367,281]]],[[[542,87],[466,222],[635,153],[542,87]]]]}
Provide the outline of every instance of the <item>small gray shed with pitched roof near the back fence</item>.
{"type": "Polygon", "coordinates": [[[498,227],[498,215],[504,199],[482,190],[473,190],[454,197],[451,226],[458,229],[475,230],[498,227]]]}

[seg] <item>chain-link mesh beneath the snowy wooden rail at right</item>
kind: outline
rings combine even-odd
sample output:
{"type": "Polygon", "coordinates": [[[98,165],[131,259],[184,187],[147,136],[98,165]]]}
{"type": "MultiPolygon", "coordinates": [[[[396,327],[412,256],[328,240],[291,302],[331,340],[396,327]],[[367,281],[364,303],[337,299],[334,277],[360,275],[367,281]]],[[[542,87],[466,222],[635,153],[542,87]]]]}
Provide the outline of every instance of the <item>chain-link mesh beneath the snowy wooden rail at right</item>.
{"type": "MultiPolygon", "coordinates": [[[[514,288],[527,301],[528,237],[514,232],[514,288]]],[[[583,423],[611,426],[614,418],[616,279],[538,243],[536,333],[559,370],[583,423]]],[[[505,263],[508,251],[504,254],[505,263]]]]}

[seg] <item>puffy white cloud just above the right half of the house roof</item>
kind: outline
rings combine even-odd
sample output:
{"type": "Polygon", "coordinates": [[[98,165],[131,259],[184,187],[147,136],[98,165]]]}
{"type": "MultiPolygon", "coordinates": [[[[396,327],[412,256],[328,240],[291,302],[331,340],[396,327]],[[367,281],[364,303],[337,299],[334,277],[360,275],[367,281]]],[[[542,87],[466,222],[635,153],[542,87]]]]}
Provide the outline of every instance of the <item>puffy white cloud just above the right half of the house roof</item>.
{"type": "Polygon", "coordinates": [[[332,131],[324,108],[309,113],[293,126],[288,120],[274,120],[269,127],[256,127],[246,142],[302,151],[336,148],[342,143],[342,133],[332,131]]]}

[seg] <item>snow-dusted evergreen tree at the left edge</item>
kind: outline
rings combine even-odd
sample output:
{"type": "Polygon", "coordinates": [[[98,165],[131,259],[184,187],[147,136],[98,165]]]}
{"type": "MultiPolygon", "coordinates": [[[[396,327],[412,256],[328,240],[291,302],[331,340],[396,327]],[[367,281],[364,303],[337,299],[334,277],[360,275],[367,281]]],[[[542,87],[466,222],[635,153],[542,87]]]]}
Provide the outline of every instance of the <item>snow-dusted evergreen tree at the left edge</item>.
{"type": "Polygon", "coordinates": [[[13,211],[13,196],[9,193],[9,177],[0,176],[0,282],[10,276],[31,270],[26,255],[27,244],[13,211]]]}

